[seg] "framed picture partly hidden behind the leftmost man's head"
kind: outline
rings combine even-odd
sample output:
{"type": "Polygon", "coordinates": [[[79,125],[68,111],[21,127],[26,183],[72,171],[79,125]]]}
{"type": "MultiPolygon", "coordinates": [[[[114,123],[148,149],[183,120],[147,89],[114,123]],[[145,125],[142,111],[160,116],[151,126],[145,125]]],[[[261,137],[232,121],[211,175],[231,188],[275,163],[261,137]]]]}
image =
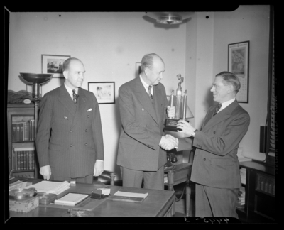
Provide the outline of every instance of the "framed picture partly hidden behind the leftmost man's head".
{"type": "Polygon", "coordinates": [[[64,78],[62,65],[70,57],[70,55],[41,55],[41,73],[52,73],[55,78],[64,78]]]}

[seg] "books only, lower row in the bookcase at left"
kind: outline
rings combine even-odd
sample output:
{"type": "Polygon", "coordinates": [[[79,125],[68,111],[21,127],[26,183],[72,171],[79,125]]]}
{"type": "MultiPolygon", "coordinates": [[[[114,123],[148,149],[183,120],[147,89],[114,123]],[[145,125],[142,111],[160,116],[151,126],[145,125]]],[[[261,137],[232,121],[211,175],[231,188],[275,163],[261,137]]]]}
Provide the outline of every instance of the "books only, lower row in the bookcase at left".
{"type": "Polygon", "coordinates": [[[34,170],[35,169],[35,151],[13,151],[12,170],[34,170]]]}

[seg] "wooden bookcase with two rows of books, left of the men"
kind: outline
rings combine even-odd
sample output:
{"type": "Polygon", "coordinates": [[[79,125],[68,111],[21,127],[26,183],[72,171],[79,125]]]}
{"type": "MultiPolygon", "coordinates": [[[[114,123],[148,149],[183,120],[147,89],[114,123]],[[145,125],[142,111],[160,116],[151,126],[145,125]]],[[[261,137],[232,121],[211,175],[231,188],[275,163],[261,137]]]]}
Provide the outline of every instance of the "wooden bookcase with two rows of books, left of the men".
{"type": "Polygon", "coordinates": [[[9,172],[16,177],[37,178],[35,104],[7,104],[9,172]]]}

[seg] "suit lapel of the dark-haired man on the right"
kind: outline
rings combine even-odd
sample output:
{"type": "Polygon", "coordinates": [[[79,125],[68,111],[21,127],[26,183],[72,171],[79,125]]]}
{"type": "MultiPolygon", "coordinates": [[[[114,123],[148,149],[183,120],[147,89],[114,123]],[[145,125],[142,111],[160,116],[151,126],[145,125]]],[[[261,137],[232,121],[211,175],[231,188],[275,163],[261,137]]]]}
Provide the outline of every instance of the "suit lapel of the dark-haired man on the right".
{"type": "Polygon", "coordinates": [[[216,124],[228,119],[231,116],[231,112],[236,109],[236,106],[238,106],[238,102],[234,101],[233,103],[229,104],[225,109],[220,111],[218,114],[213,116],[214,111],[217,106],[214,106],[209,112],[208,116],[204,121],[204,126],[202,126],[202,131],[207,131],[212,126],[215,126],[216,124]],[[206,123],[207,122],[207,123],[206,123]]]}

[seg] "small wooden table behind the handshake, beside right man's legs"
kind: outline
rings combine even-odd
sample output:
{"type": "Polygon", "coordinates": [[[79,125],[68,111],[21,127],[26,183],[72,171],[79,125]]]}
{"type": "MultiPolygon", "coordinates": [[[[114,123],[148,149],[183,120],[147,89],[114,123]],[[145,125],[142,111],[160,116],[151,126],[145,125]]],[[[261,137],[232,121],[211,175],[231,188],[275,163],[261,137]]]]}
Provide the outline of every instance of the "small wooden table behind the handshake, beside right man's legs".
{"type": "MultiPolygon", "coordinates": [[[[173,191],[173,186],[178,185],[182,182],[186,182],[185,190],[185,215],[190,217],[190,175],[191,175],[192,164],[190,163],[181,163],[175,165],[175,168],[165,169],[165,173],[168,175],[168,183],[165,183],[168,186],[168,190],[173,191]]],[[[173,210],[175,211],[175,210],[173,210]]]]}

